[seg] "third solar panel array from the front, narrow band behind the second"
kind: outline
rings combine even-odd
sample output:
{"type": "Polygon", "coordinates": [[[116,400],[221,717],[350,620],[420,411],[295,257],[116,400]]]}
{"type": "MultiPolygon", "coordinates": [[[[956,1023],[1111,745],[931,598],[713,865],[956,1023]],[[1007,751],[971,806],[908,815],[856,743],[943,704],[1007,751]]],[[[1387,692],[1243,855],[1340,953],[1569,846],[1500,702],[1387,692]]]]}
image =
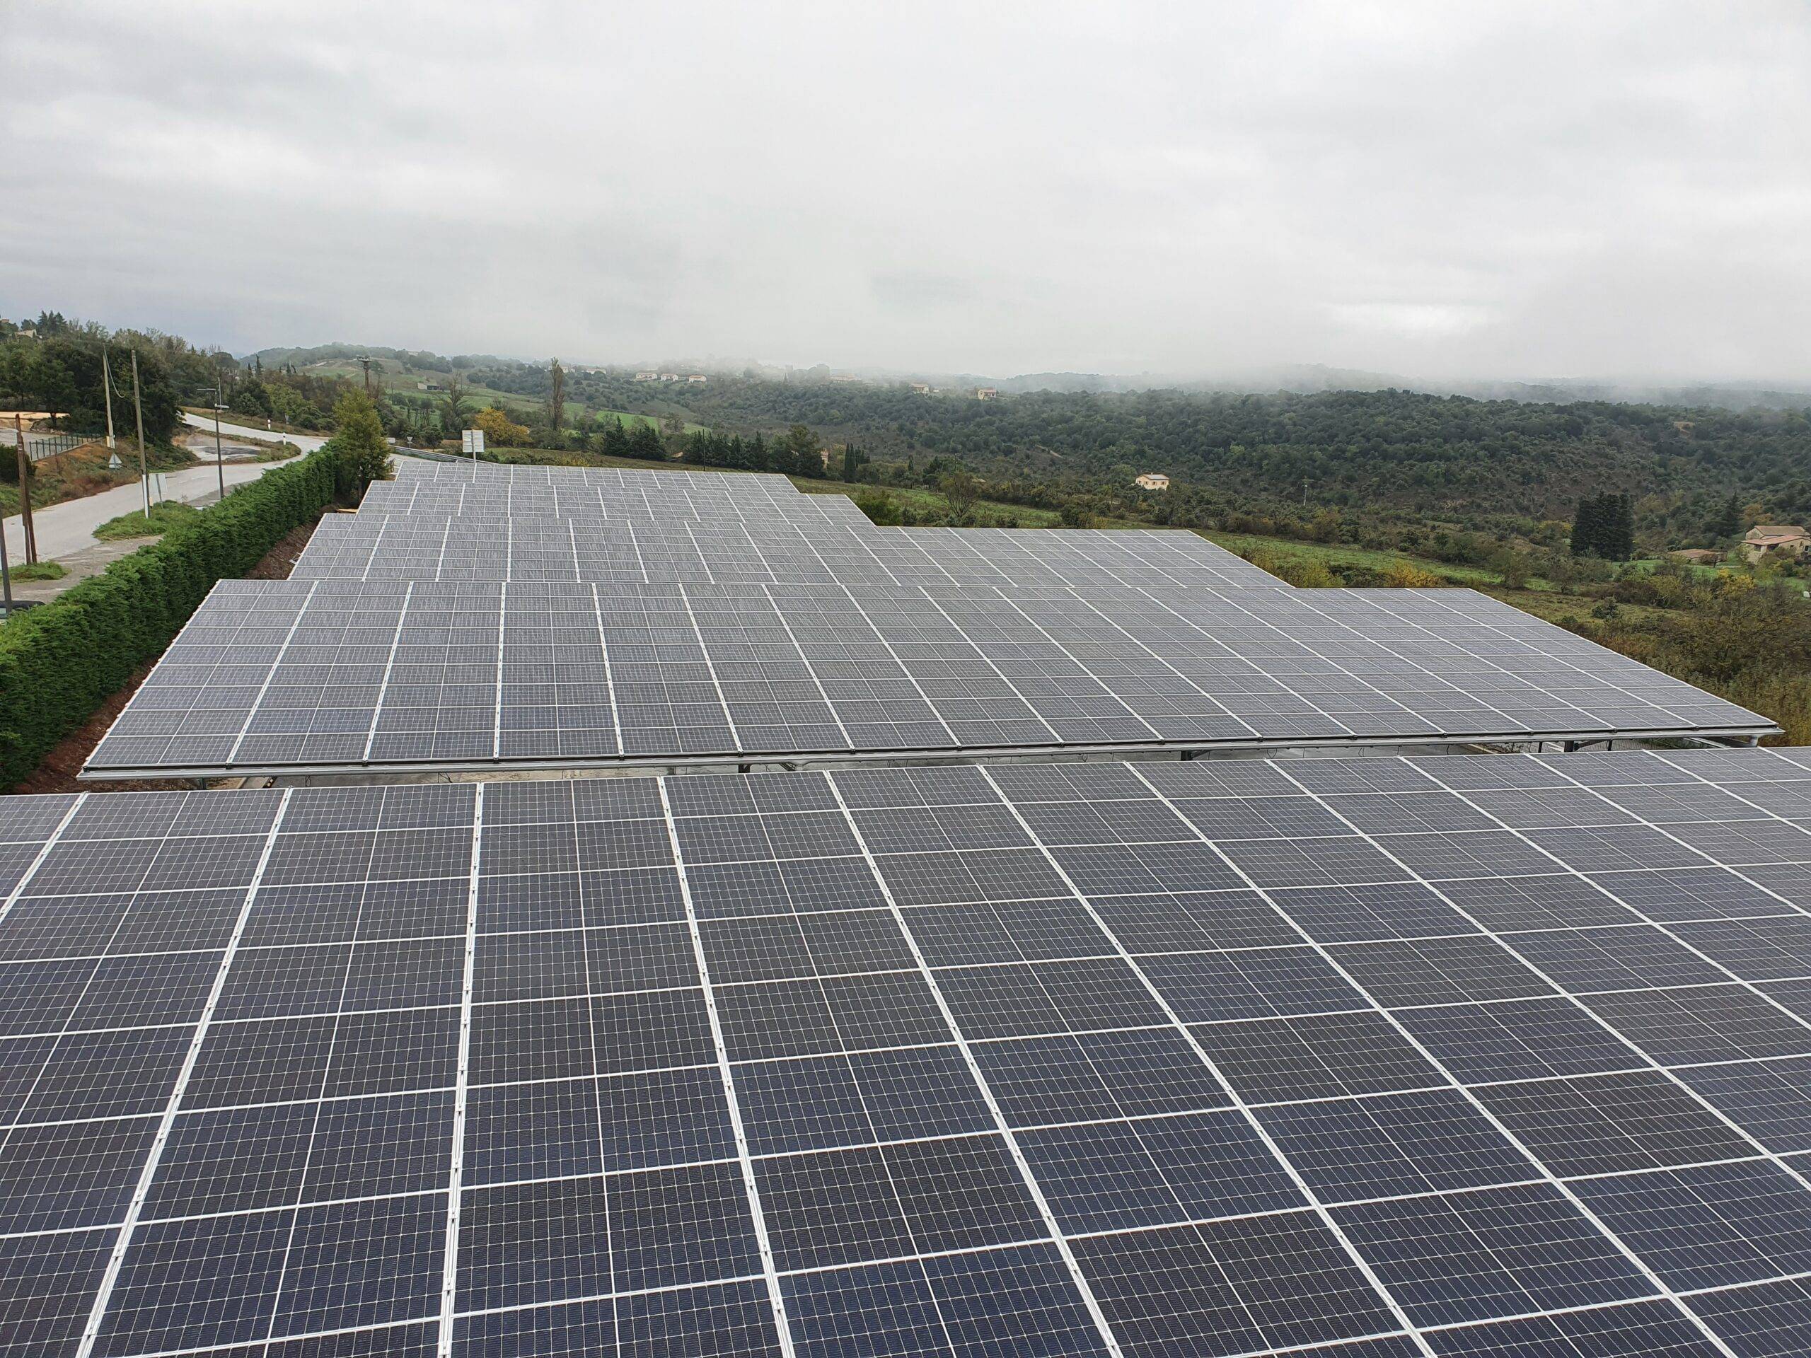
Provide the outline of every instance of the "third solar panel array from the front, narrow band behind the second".
{"type": "MultiPolygon", "coordinates": [[[[819,496],[819,500],[849,500],[819,496]]],[[[853,505],[851,505],[853,509],[853,505]]],[[[800,512],[741,520],[331,514],[292,579],[1163,585],[1288,588],[1193,532],[882,529],[800,512]]]]}

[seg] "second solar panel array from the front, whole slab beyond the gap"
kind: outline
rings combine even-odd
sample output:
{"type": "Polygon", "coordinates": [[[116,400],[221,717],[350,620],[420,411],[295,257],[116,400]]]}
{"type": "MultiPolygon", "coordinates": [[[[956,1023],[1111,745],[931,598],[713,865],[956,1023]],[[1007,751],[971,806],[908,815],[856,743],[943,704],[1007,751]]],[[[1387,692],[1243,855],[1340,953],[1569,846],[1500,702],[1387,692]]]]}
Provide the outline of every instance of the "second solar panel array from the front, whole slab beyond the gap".
{"type": "Polygon", "coordinates": [[[85,775],[1706,730],[1465,590],[223,581],[85,775]]]}

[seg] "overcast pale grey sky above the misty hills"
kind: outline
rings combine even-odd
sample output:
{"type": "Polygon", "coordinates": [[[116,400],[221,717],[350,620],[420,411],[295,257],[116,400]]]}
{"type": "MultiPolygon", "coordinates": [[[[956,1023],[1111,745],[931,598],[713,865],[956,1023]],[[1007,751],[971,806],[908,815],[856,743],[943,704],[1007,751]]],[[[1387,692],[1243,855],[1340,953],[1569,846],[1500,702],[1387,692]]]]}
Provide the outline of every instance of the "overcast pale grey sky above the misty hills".
{"type": "Polygon", "coordinates": [[[1811,378],[1811,9],[0,0],[0,315],[1811,378]]]}

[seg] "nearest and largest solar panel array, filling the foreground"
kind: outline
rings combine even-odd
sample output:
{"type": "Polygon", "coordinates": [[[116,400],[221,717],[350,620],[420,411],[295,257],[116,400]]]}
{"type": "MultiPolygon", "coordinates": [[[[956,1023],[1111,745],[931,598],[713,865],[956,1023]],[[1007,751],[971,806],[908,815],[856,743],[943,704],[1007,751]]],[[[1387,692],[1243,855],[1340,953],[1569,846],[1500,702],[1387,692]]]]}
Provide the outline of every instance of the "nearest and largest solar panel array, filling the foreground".
{"type": "Polygon", "coordinates": [[[1797,1354],[1811,760],[0,804],[0,1353],[1797,1354]]]}

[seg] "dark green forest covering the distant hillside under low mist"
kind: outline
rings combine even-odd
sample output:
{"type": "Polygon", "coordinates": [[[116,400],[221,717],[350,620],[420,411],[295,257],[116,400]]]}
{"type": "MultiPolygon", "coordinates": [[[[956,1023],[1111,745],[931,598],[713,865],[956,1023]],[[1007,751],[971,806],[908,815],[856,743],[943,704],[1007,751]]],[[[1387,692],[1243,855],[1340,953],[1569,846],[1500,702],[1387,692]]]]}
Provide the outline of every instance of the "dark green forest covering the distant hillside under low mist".
{"type": "MultiPolygon", "coordinates": [[[[543,395],[547,369],[500,364],[474,380],[543,395]]],[[[806,424],[873,464],[954,460],[991,480],[1116,489],[1166,473],[1250,512],[1347,514],[1505,529],[1570,520],[1592,494],[1628,494],[1655,545],[1706,538],[1730,496],[1768,516],[1811,514],[1806,411],[1534,404],[1414,391],[1264,397],[1184,391],[1027,393],[974,400],[909,387],[712,377],[683,391],[572,371],[567,400],[735,431],[806,424]]]]}

